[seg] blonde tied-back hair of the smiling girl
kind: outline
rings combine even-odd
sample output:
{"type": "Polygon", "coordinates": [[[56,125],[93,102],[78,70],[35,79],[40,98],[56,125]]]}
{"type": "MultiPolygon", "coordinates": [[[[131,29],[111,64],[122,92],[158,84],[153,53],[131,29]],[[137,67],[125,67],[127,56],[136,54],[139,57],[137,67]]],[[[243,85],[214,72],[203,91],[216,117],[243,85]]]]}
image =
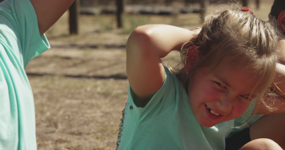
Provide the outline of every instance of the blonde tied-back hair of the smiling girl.
{"type": "Polygon", "coordinates": [[[262,98],[273,82],[278,60],[277,30],[270,22],[240,8],[215,12],[204,20],[198,37],[182,45],[180,67],[172,69],[172,73],[188,89],[191,75],[200,67],[207,66],[212,71],[217,67],[242,65],[260,77],[253,91],[259,89],[257,99],[265,104],[262,98]],[[194,64],[192,73],[187,74],[183,68],[191,45],[198,46],[200,59],[194,64]]]}

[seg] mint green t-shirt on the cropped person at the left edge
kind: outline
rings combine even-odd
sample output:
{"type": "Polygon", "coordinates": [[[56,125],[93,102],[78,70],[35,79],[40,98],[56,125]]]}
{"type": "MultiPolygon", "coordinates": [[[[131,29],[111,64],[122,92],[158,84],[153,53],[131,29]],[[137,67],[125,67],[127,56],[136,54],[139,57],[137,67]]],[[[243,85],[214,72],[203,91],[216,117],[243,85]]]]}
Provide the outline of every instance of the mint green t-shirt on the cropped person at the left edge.
{"type": "Polygon", "coordinates": [[[32,90],[24,68],[50,46],[29,0],[0,3],[0,149],[36,149],[32,90]]]}

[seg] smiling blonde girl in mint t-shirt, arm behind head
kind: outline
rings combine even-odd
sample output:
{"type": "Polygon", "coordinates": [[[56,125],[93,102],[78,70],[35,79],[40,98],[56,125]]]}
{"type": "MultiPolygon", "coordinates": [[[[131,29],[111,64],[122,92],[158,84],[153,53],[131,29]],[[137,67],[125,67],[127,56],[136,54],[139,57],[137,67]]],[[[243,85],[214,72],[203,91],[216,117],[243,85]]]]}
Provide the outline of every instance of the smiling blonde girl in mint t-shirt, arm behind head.
{"type": "Polygon", "coordinates": [[[117,149],[225,149],[233,119],[255,97],[262,101],[277,61],[276,31],[242,10],[208,15],[194,39],[199,29],[145,25],[133,31],[117,149]],[[171,73],[160,58],[173,50],[182,53],[182,68],[171,73]]]}

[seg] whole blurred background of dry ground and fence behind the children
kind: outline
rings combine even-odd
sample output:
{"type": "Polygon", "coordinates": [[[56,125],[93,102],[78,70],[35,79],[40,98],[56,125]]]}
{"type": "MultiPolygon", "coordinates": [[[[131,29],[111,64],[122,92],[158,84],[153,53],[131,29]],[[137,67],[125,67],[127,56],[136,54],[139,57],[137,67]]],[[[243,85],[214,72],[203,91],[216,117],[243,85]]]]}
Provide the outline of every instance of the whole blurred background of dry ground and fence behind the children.
{"type": "MultiPolygon", "coordinates": [[[[194,30],[205,13],[231,7],[229,2],[76,0],[46,32],[51,49],[25,69],[34,93],[38,149],[115,149],[128,99],[125,44],[132,30],[143,24],[194,30]]],[[[238,3],[264,20],[272,4],[238,3]]],[[[172,66],[179,58],[171,52],[163,62],[172,66]]]]}

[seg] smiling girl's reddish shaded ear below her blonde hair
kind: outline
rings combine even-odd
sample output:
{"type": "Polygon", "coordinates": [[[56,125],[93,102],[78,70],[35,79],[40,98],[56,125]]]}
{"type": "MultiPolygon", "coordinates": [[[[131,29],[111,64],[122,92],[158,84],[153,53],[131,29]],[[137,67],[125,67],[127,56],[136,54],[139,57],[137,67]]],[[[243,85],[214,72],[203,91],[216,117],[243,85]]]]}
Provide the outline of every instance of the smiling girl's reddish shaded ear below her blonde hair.
{"type": "Polygon", "coordinates": [[[199,49],[196,45],[191,45],[186,53],[184,70],[189,73],[192,71],[195,62],[199,60],[199,49]]]}

